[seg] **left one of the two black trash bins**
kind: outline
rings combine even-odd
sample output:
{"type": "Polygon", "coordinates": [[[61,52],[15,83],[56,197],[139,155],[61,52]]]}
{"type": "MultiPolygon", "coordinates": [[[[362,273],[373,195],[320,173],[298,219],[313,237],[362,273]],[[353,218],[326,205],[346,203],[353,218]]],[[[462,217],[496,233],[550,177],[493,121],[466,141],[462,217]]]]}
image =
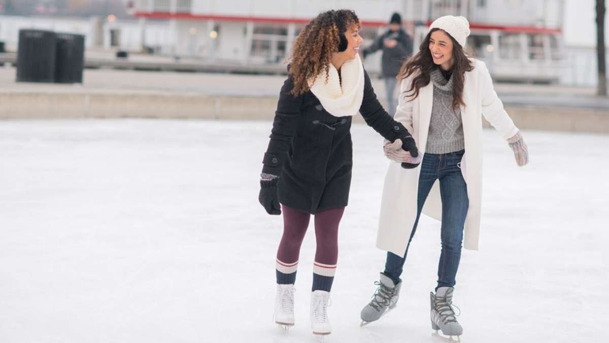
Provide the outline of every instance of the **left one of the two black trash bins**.
{"type": "Polygon", "coordinates": [[[46,30],[19,30],[18,82],[54,82],[57,36],[46,30]]]}

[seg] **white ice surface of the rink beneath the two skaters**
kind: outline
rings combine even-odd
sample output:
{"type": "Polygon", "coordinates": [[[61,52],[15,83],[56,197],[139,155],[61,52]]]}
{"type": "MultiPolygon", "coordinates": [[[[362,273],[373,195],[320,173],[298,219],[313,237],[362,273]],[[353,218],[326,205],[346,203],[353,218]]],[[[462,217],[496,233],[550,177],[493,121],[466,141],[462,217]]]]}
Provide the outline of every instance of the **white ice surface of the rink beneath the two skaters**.
{"type": "MultiPolygon", "coordinates": [[[[271,122],[0,122],[0,342],[315,342],[314,232],[296,325],[272,322],[280,216],[258,203],[271,122]]],[[[422,216],[397,308],[359,327],[385,253],[382,139],[354,124],[350,205],[326,342],[434,342],[440,224],[422,216]]],[[[461,341],[601,342],[609,306],[609,136],[485,130],[481,250],[464,250],[461,341]]]]}

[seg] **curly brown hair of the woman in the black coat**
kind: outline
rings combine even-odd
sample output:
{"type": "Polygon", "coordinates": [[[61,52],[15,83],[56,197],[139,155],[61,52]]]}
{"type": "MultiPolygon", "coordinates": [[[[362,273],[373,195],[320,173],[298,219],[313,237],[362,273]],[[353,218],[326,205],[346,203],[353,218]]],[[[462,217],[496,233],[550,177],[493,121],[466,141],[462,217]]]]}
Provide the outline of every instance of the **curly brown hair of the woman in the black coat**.
{"type": "Polygon", "coordinates": [[[305,26],[292,48],[289,74],[294,79],[294,88],[290,93],[299,96],[309,91],[309,81],[313,82],[322,70],[326,71],[328,82],[332,54],[339,51],[339,34],[352,26],[362,28],[353,10],[329,10],[305,26]]]}

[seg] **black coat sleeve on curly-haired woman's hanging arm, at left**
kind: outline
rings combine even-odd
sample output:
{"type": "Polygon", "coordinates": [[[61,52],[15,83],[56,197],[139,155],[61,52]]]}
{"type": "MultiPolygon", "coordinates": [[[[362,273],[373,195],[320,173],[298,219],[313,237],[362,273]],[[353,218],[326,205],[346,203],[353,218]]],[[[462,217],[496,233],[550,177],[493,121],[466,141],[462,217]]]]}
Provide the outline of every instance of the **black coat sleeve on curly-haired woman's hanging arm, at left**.
{"type": "Polygon", "coordinates": [[[293,96],[290,94],[292,88],[294,88],[294,79],[292,79],[292,75],[289,75],[281,87],[273,129],[269,136],[269,147],[262,158],[262,164],[264,164],[262,172],[265,174],[281,175],[281,169],[287,158],[287,150],[296,135],[304,94],[293,96]]]}

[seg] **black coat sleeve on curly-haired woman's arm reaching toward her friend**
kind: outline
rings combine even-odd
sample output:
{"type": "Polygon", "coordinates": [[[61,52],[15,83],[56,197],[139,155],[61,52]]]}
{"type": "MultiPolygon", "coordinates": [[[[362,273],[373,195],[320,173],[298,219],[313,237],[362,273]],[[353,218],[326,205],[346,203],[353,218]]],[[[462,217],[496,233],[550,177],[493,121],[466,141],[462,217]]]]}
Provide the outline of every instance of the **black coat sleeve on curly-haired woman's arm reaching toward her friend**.
{"type": "Polygon", "coordinates": [[[395,141],[398,138],[410,136],[410,132],[400,122],[391,118],[389,113],[382,107],[381,102],[376,98],[375,90],[372,88],[370,77],[364,70],[364,98],[362,106],[359,108],[366,124],[381,134],[385,140],[395,141]]]}

